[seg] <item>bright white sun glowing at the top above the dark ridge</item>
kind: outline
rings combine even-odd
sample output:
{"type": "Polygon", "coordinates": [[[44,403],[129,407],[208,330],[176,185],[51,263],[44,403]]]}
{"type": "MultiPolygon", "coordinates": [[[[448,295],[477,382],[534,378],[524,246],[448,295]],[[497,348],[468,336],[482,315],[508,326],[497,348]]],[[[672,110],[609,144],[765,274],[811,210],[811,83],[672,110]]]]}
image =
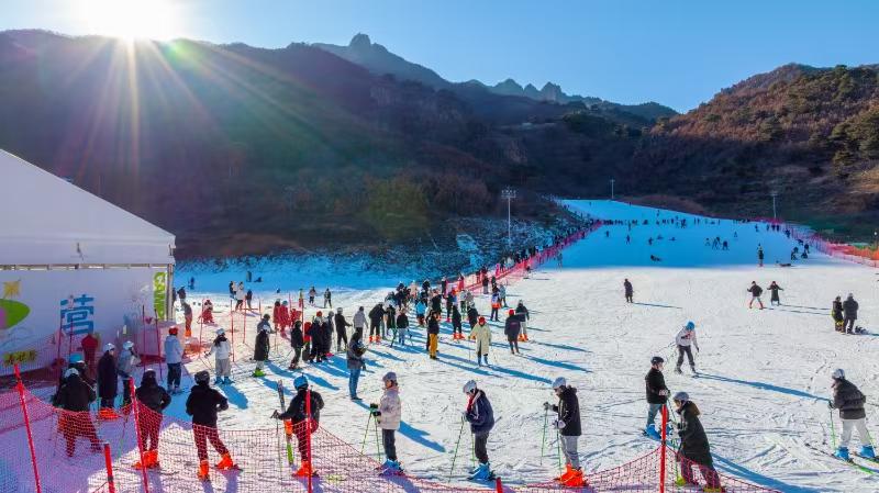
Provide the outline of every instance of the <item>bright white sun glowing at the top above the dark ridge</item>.
{"type": "Polygon", "coordinates": [[[123,40],[170,40],[178,36],[174,0],[81,0],[89,32],[123,40]]]}

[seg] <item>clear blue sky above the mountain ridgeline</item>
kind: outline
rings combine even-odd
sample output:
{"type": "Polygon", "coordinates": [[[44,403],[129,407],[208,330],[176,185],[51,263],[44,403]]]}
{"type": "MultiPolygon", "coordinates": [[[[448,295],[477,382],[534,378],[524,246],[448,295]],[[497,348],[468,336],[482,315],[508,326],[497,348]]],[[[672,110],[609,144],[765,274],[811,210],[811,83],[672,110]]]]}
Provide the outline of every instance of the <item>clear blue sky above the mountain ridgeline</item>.
{"type": "Polygon", "coordinates": [[[512,77],[611,101],[687,111],[789,61],[879,63],[879,1],[2,0],[0,29],[347,44],[367,33],[454,80],[512,77]],[[162,5],[120,21],[105,4],[162,5]],[[96,21],[98,19],[98,21],[96,21]],[[153,19],[153,21],[148,21],[153,19]],[[147,20],[147,21],[144,21],[147,20]],[[137,25],[140,23],[140,25],[137,25]],[[143,25],[146,23],[147,25],[143,25]],[[108,27],[110,25],[111,27],[108,27]],[[115,26],[115,27],[112,27],[115,26]],[[872,33],[872,34],[870,34],[872,33]]]}

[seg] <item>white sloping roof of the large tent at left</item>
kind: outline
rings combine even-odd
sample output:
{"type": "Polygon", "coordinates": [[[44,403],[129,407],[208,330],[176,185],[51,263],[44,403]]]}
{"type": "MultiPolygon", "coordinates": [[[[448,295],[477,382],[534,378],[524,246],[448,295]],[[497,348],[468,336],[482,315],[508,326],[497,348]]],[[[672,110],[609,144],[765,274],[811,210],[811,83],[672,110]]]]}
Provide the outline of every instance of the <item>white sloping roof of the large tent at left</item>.
{"type": "Polygon", "coordinates": [[[0,150],[0,266],[174,264],[174,235],[0,150]]]}

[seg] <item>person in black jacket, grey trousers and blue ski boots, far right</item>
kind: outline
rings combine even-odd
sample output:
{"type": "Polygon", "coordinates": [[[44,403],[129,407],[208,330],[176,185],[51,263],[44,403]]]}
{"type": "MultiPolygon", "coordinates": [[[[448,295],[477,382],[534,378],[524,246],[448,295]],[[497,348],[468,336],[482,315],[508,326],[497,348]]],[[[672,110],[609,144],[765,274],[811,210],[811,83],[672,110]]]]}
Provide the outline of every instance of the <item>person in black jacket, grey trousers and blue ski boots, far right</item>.
{"type": "Polygon", "coordinates": [[[845,371],[837,369],[833,372],[833,399],[827,403],[830,408],[839,410],[839,419],[843,422],[843,435],[839,437],[839,447],[834,452],[836,458],[852,460],[848,456],[848,441],[852,439],[852,428],[857,428],[860,438],[860,453],[865,459],[875,460],[876,451],[872,439],[867,430],[867,412],[864,404],[867,397],[845,378],[845,371]]]}

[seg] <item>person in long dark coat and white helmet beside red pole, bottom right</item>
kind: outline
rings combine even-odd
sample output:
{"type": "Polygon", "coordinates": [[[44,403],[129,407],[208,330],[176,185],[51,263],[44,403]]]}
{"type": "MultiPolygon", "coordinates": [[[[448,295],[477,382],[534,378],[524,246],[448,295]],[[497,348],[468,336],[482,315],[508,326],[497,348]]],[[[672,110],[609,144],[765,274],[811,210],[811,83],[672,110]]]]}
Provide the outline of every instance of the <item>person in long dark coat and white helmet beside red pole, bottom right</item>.
{"type": "Polygon", "coordinates": [[[699,421],[699,407],[690,401],[687,392],[678,392],[674,397],[678,419],[678,436],[680,437],[680,448],[676,459],[680,461],[681,480],[679,486],[696,485],[692,466],[696,464],[705,480],[705,491],[722,491],[721,479],[714,470],[714,461],[711,458],[711,447],[708,444],[708,436],[702,423],[699,421]]]}

